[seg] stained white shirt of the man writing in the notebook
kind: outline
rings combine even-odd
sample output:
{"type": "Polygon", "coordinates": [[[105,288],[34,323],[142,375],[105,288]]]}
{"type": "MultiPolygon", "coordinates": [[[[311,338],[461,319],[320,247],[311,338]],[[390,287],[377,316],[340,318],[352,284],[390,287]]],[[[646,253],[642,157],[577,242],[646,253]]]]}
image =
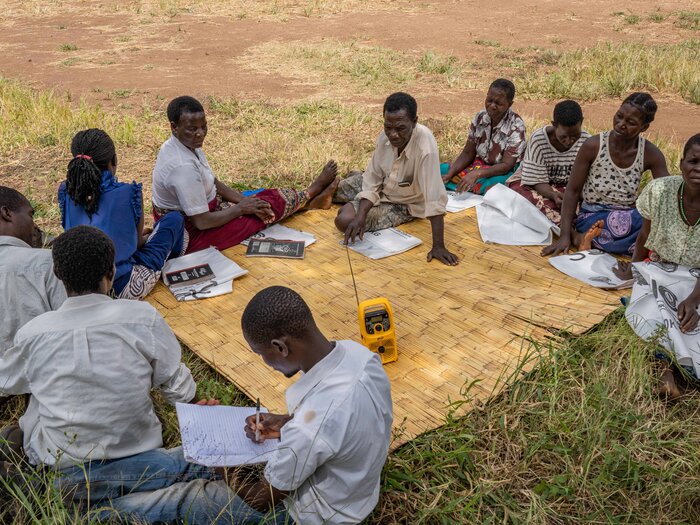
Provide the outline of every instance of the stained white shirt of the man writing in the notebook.
{"type": "Polygon", "coordinates": [[[285,505],[296,523],[361,522],[379,499],[391,440],[391,387],[379,357],[338,341],[286,397],[294,418],[265,477],[291,492],[285,505]]]}

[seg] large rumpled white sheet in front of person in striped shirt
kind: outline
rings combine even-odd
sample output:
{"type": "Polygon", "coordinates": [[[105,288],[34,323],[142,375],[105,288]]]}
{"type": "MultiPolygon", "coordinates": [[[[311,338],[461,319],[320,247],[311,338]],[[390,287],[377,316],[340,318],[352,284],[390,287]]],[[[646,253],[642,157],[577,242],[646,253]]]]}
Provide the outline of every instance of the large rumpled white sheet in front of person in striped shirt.
{"type": "Polygon", "coordinates": [[[476,208],[479,233],[484,242],[512,246],[551,244],[559,228],[525,197],[496,184],[476,208]]]}

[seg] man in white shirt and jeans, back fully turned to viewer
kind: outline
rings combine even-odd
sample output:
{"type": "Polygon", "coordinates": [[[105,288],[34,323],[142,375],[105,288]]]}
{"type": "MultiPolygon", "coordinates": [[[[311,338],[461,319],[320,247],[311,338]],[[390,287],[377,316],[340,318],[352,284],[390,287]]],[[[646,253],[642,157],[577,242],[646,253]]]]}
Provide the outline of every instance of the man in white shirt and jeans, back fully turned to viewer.
{"type": "Polygon", "coordinates": [[[164,450],[150,391],[189,402],[195,383],[180,345],[148,303],[111,299],[114,245],[78,226],[53,245],[68,298],[24,325],[0,359],[0,394],[31,394],[20,418],[33,465],[55,467],[74,500],[109,500],[183,479],[214,477],[164,450]]]}

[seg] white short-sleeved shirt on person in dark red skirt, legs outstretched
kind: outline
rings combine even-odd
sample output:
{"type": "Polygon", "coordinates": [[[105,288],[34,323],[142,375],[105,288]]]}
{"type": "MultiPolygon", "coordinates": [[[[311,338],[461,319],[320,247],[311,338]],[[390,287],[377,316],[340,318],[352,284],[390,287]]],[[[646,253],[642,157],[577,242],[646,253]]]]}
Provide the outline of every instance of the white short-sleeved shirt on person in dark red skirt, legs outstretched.
{"type": "Polygon", "coordinates": [[[185,215],[209,211],[216,179],[201,148],[190,150],[175,135],[160,147],[153,168],[153,204],[185,215]]]}

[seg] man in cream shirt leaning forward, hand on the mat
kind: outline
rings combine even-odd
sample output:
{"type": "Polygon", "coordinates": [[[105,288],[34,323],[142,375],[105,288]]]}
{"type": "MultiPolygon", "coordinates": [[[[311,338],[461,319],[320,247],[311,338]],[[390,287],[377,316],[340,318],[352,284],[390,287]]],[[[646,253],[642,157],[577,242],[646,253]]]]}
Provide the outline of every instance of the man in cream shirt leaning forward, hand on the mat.
{"type": "Polygon", "coordinates": [[[345,243],[366,231],[392,228],[414,218],[427,218],[433,234],[428,261],[454,266],[457,256],[445,248],[447,192],[440,175],[440,156],[432,132],[418,124],[418,105],[407,93],[384,102],[380,133],[364,174],[338,185],[334,202],[347,203],[335,219],[345,243]]]}

